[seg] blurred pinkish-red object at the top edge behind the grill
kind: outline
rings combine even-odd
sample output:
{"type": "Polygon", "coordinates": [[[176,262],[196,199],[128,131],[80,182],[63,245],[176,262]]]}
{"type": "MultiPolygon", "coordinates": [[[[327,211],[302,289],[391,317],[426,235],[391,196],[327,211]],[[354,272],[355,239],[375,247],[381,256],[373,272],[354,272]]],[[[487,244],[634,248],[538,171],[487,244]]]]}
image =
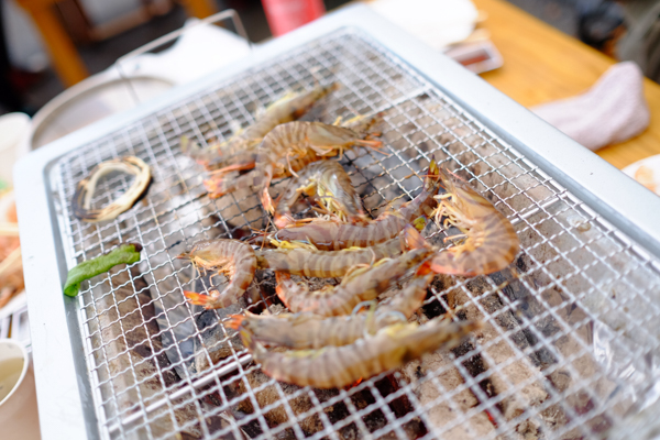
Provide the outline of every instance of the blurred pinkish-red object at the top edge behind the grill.
{"type": "Polygon", "coordinates": [[[262,0],[271,32],[279,36],[326,13],[322,0],[262,0]]]}

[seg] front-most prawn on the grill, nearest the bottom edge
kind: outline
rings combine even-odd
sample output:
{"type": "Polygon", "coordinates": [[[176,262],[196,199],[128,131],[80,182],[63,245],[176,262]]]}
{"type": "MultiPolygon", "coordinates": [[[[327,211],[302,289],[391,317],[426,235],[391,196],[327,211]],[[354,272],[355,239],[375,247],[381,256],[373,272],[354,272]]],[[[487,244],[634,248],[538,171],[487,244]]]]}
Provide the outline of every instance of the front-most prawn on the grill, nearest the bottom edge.
{"type": "Polygon", "coordinates": [[[241,337],[268,376],[299,386],[340,388],[397,369],[425,353],[450,350],[481,327],[479,321],[449,322],[436,318],[424,326],[388,326],[350,345],[286,352],[267,351],[246,330],[241,331],[241,337]]]}

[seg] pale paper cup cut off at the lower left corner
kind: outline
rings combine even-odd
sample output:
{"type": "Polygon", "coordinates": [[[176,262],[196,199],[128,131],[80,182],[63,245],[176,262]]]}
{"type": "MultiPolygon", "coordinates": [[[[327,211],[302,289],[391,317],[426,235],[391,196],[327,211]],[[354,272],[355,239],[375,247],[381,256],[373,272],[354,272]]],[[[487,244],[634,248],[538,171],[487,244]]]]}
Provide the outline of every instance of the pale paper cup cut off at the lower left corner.
{"type": "Polygon", "coordinates": [[[30,356],[11,339],[0,339],[0,438],[41,439],[30,356]]]}

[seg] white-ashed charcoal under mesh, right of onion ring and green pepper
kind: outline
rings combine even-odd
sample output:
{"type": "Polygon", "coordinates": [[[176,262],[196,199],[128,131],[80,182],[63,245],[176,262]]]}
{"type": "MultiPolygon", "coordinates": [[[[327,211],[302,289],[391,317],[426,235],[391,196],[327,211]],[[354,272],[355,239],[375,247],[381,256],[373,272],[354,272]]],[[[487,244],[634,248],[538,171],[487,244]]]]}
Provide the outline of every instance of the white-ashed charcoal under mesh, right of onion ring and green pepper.
{"type": "MultiPolygon", "coordinates": [[[[182,377],[193,363],[190,334],[195,332],[190,319],[193,307],[186,301],[182,285],[191,280],[195,271],[189,261],[177,256],[193,242],[219,238],[224,232],[218,227],[220,221],[213,215],[213,205],[201,197],[195,179],[196,175],[183,179],[179,174],[154,176],[145,197],[153,210],[139,210],[135,215],[143,255],[148,256],[140,262],[140,268],[155,293],[153,305],[165,353],[182,377]]],[[[133,227],[132,221],[127,219],[129,228],[133,227]]]]}

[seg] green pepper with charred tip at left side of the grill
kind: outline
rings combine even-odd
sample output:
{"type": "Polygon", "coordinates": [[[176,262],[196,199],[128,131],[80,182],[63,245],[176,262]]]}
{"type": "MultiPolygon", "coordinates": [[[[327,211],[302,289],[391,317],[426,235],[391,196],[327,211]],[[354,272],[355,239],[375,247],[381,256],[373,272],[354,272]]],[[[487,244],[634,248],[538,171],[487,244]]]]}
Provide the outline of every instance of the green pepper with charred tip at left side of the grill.
{"type": "Polygon", "coordinates": [[[72,268],[66,276],[64,284],[64,295],[76,296],[80,288],[80,283],[92,278],[103,272],[110,271],[118,264],[133,264],[140,261],[140,251],[142,245],[138,243],[121,244],[107,254],[88,260],[72,268]]]}

